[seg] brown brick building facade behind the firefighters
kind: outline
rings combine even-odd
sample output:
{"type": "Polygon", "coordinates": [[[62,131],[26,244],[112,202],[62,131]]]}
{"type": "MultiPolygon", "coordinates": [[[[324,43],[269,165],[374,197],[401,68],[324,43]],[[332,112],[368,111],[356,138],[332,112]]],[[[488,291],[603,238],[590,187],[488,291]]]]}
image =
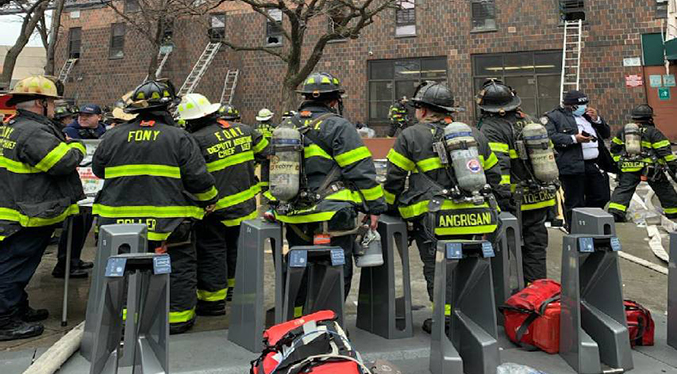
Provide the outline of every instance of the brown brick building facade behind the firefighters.
{"type": "MultiPolygon", "coordinates": [[[[627,121],[630,108],[647,102],[650,94],[648,77],[642,86],[626,86],[626,76],[645,74],[644,66],[634,66],[637,64],[627,59],[642,57],[644,35],[660,33],[661,1],[575,3],[582,6],[579,11],[586,19],[581,89],[611,124],[621,125],[627,121]]],[[[421,79],[435,79],[446,80],[457,105],[467,108],[458,119],[472,122],[476,118],[474,95],[490,76],[504,78],[523,97],[524,109],[539,115],[559,102],[563,40],[560,5],[560,0],[416,0],[413,10],[385,11],[359,39],[329,44],[316,70],[342,79],[347,91],[345,113],[352,121],[383,124],[384,110],[396,97],[411,95],[421,79]]],[[[252,46],[266,40],[265,17],[237,3],[222,7],[215,13],[226,15],[228,40],[252,46]]],[[[162,76],[177,86],[209,41],[210,17],[174,23],[175,48],[162,76]]],[[[74,48],[69,39],[80,37],[80,59],[66,83],[67,96],[80,103],[112,104],[144,79],[154,53],[149,52],[150,44],[133,28],[113,26],[116,23],[124,23],[123,18],[100,3],[76,1],[64,12],[57,66],[74,48]],[[69,31],[73,28],[81,30],[74,35],[69,31]],[[120,37],[122,53],[117,53],[120,37]],[[117,55],[111,53],[112,47],[117,55]]],[[[308,46],[327,26],[327,19],[314,20],[308,46]]],[[[284,42],[279,48],[285,48],[284,42]]],[[[245,121],[253,121],[262,107],[278,114],[291,109],[281,108],[284,63],[259,51],[234,52],[223,47],[196,92],[218,100],[228,69],[240,70],[234,103],[245,121]]]]}

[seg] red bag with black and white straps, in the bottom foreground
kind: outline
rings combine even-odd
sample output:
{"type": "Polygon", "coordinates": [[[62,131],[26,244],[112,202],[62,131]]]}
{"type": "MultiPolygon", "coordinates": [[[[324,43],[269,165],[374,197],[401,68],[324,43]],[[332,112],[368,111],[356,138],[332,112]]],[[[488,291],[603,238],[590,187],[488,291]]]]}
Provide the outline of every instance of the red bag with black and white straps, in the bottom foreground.
{"type": "Polygon", "coordinates": [[[263,343],[265,348],[252,361],[250,374],[367,372],[330,310],[275,325],[263,333],[263,343]]]}

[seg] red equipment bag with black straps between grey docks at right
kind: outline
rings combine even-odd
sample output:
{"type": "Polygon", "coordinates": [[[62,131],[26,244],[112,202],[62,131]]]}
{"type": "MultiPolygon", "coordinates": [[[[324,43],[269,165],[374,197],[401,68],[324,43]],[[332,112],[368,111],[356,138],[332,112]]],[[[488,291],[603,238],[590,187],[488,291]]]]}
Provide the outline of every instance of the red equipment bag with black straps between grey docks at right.
{"type": "Polygon", "coordinates": [[[500,308],[508,338],[523,348],[559,352],[561,290],[554,280],[539,279],[511,296],[500,308]]]}

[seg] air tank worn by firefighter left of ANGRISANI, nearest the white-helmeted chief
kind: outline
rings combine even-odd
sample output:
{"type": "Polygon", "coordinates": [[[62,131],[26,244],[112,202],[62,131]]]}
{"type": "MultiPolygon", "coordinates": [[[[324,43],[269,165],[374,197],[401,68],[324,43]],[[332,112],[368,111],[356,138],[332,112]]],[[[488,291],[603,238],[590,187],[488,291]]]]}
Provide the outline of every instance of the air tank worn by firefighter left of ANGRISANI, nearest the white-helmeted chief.
{"type": "Polygon", "coordinates": [[[290,201],[299,193],[303,140],[295,128],[281,125],[271,138],[270,193],[280,201],[290,201]]]}

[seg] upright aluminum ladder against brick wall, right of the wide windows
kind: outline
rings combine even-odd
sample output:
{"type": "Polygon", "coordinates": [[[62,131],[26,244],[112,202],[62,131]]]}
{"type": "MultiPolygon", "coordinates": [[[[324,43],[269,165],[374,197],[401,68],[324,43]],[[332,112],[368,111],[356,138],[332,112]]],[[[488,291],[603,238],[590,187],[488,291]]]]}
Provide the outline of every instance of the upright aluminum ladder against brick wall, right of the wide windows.
{"type": "Polygon", "coordinates": [[[564,21],[564,43],[562,47],[562,78],[560,81],[560,103],[570,90],[578,90],[581,80],[581,49],[583,20],[564,21]]]}

